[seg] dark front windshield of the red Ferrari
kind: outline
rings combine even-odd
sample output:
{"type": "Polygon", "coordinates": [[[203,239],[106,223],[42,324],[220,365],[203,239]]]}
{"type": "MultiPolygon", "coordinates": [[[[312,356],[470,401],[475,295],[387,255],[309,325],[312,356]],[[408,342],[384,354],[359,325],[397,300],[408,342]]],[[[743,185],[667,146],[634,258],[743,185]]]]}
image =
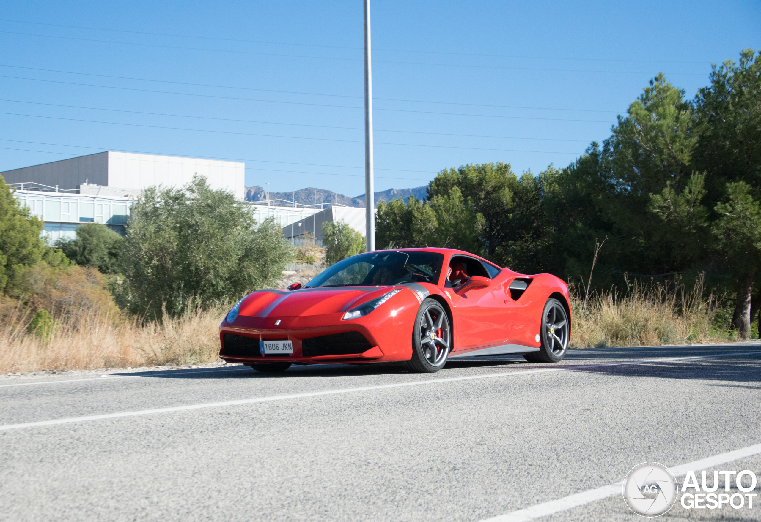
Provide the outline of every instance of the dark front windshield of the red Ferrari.
{"type": "Polygon", "coordinates": [[[321,272],[305,288],[438,283],[444,255],[384,250],[353,255],[321,272]]]}

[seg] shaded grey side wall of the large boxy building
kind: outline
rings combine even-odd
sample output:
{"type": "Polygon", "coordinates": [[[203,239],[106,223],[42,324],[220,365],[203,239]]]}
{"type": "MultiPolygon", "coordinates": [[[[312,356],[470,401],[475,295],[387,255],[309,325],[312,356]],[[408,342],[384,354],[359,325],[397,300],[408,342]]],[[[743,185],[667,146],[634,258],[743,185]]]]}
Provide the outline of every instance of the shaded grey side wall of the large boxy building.
{"type": "Polygon", "coordinates": [[[53,161],[0,172],[6,183],[36,182],[59,188],[78,188],[85,181],[108,185],[108,152],[53,161]]]}

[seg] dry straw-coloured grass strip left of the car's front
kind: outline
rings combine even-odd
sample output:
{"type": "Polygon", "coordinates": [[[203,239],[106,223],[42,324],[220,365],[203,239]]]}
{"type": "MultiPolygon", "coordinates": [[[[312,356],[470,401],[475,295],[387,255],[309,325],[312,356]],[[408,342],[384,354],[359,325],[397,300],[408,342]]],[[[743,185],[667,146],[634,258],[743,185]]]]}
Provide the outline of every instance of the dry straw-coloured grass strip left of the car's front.
{"type": "Polygon", "coordinates": [[[0,373],[214,362],[226,312],[198,309],[145,325],[92,312],[56,323],[49,337],[27,332],[28,314],[20,315],[0,326],[0,373]]]}

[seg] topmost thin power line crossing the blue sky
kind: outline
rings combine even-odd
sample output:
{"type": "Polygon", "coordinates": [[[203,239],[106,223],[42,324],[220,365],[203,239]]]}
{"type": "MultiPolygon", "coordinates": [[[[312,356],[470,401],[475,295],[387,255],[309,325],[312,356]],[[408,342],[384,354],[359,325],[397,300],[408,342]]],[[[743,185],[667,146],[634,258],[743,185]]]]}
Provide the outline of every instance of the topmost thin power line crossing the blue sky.
{"type": "MultiPolygon", "coordinates": [[[[314,43],[290,43],[290,42],[269,42],[266,40],[240,40],[237,38],[219,38],[216,36],[197,36],[189,34],[171,34],[171,33],[148,33],[145,31],[132,31],[124,29],[106,29],[103,27],[82,27],[78,25],[63,25],[63,24],[45,24],[43,22],[28,22],[23,20],[8,20],[0,18],[0,21],[15,22],[17,24],[34,24],[34,25],[46,25],[51,27],[69,27],[72,29],[88,29],[99,31],[111,31],[114,33],[132,33],[132,34],[149,34],[151,36],[173,36],[177,38],[197,38],[200,40],[220,40],[224,42],[244,42],[244,43],[269,43],[282,46],[301,46],[301,47],[324,47],[327,49],[361,49],[361,47],[350,46],[325,46],[314,43]]],[[[606,59],[606,58],[559,58],[556,56],[524,56],[524,55],[490,55],[490,54],[477,54],[473,52],[444,52],[444,51],[414,51],[409,49],[383,49],[376,48],[377,51],[389,51],[389,52],[413,52],[419,54],[431,54],[431,55],[456,55],[456,56],[485,56],[489,58],[521,58],[521,59],[541,59],[541,60],[577,60],[584,62],[638,62],[638,63],[689,63],[689,64],[705,64],[708,62],[685,62],[685,61],[665,61],[665,60],[624,60],[624,59],[606,59]]]]}

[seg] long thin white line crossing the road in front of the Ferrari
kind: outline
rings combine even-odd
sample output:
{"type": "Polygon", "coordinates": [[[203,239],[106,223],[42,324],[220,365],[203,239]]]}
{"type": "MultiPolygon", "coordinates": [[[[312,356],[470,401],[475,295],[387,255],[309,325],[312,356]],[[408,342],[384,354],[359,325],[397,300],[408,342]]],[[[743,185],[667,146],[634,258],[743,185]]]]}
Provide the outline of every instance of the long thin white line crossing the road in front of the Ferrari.
{"type": "MultiPolygon", "coordinates": [[[[336,394],[350,394],[355,391],[373,391],[373,390],[385,390],[387,388],[403,388],[406,386],[421,386],[422,384],[440,384],[443,382],[456,382],[456,381],[472,381],[474,379],[489,379],[498,377],[513,377],[514,375],[528,375],[533,373],[549,373],[549,372],[567,372],[569,370],[589,369],[589,368],[601,368],[604,366],[621,366],[630,364],[643,364],[645,362],[666,362],[677,361],[687,359],[704,359],[705,357],[727,357],[727,356],[741,356],[741,355],[753,355],[761,352],[744,352],[744,353],[717,353],[710,356],[684,356],[684,357],[669,357],[666,359],[644,359],[641,361],[625,361],[625,362],[607,362],[601,364],[592,365],[578,365],[578,366],[565,366],[563,368],[543,368],[534,370],[524,370],[523,372],[505,372],[495,373],[490,375],[468,375],[466,377],[451,377],[446,379],[431,379],[430,381],[416,381],[416,382],[400,382],[395,384],[380,384],[378,386],[365,386],[363,388],[347,388],[344,390],[326,390],[326,391],[312,391],[304,394],[291,394],[291,395],[274,395],[272,397],[256,397],[253,399],[239,399],[239,400],[225,400],[219,403],[202,403],[202,404],[189,404],[188,406],[177,406],[170,408],[156,408],[154,410],[138,410],[128,411],[120,413],[105,413],[103,415],[89,415],[82,417],[70,417],[68,419],[53,419],[43,420],[38,422],[24,422],[22,424],[7,424],[0,426],[0,431],[8,429],[21,429],[21,428],[33,428],[36,426],[55,426],[56,424],[68,424],[69,422],[85,422],[89,420],[100,419],[116,419],[118,417],[133,417],[139,415],[151,415],[153,413],[170,413],[176,411],[185,410],[202,410],[205,408],[218,408],[225,406],[237,406],[240,404],[254,404],[254,403],[266,403],[272,400],[288,400],[288,399],[302,399],[305,397],[319,397],[320,395],[336,395],[336,394]]],[[[105,380],[105,379],[104,379],[105,380]]]]}

